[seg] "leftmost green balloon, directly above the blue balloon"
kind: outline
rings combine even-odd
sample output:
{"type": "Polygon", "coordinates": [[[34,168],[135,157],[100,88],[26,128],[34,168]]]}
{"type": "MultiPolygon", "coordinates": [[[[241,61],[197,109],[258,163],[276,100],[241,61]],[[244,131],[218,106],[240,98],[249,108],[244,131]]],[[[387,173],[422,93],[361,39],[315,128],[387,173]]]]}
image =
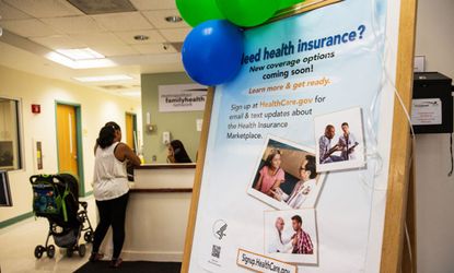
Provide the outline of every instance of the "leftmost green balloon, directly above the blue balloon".
{"type": "Polygon", "coordinates": [[[224,19],[216,0],[176,0],[179,14],[190,26],[208,20],[224,19]]]}

